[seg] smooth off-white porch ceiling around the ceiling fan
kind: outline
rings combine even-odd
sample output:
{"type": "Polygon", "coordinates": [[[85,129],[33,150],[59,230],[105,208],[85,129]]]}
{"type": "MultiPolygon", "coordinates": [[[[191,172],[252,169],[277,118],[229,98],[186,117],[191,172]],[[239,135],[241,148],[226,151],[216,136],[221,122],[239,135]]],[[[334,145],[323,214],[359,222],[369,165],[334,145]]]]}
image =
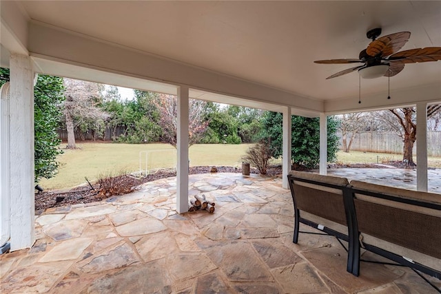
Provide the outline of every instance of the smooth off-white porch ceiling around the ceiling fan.
{"type": "MultiPolygon", "coordinates": [[[[441,1],[16,3],[28,21],[324,101],[331,111],[345,108],[341,107],[345,99],[358,98],[358,74],[326,80],[352,65],[313,61],[358,58],[370,41],[367,30],[377,27],[382,36],[411,32],[402,50],[441,47],[441,1]]],[[[3,17],[14,21],[2,12],[2,24],[3,17]]],[[[42,66],[48,63],[41,59],[42,66]]],[[[431,101],[433,93],[435,97],[439,93],[441,101],[441,62],[408,64],[390,83],[391,93],[419,93],[427,85],[431,101]]],[[[366,97],[384,96],[387,78],[362,80],[361,92],[366,97]]]]}

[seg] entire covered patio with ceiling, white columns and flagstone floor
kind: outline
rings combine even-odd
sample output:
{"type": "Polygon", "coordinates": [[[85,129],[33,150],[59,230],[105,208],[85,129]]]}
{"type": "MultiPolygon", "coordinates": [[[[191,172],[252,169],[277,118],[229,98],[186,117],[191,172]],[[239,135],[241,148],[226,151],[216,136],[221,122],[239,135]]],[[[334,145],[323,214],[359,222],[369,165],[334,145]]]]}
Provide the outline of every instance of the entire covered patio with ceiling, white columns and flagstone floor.
{"type": "Polygon", "coordinates": [[[382,36],[411,32],[404,50],[441,46],[441,2],[1,1],[0,8],[1,66],[10,68],[0,143],[1,197],[10,200],[1,233],[10,233],[12,251],[1,257],[5,290],[130,292],[158,285],[152,292],[205,293],[208,287],[256,293],[260,286],[262,293],[431,291],[420,277],[393,266],[367,264],[371,271],[349,276],[338,268],[344,268],[343,249],[328,237],[292,244],[287,174],[291,115],[320,118],[320,174],[327,174],[327,116],[416,107],[416,189],[427,191],[427,105],[441,103],[441,63],[406,65],[388,89],[387,78],[360,81],[357,72],[327,80],[347,65],[314,61],[358,58],[371,28],[382,28],[382,36]],[[36,218],[38,73],[177,95],[176,180],[156,182],[163,191],[147,185],[114,202],[36,218]],[[189,176],[189,98],[282,112],[282,180],[189,176]],[[214,214],[185,213],[198,191],[216,198],[214,214]],[[167,246],[161,245],[165,240],[167,246]]]}

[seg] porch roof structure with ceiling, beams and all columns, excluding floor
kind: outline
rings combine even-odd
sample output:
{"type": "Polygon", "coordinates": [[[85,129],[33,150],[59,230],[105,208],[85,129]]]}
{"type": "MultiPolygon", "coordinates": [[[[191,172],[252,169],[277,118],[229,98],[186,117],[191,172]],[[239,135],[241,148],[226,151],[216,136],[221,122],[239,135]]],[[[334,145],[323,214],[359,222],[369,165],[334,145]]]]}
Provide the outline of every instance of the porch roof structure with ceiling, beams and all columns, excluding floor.
{"type": "Polygon", "coordinates": [[[291,115],[320,117],[326,174],[327,116],[416,106],[416,188],[427,191],[427,105],[441,102],[441,64],[406,65],[388,88],[387,78],[360,83],[356,72],[327,80],[347,65],[314,61],[357,58],[372,28],[411,32],[404,50],[440,46],[439,19],[438,1],[1,1],[1,66],[11,81],[1,103],[0,180],[11,250],[35,241],[37,73],[177,95],[178,213],[188,202],[189,98],[282,112],[285,189],[291,115]]]}

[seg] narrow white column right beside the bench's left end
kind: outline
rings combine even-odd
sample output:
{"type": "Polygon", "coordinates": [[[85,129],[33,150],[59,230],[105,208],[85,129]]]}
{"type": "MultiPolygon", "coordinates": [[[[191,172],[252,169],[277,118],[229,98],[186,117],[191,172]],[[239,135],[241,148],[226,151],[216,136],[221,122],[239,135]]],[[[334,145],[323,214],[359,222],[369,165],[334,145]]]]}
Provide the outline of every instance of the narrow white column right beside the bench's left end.
{"type": "Polygon", "coordinates": [[[291,107],[283,110],[283,147],[282,147],[282,187],[289,188],[288,174],[291,171],[291,107]]]}

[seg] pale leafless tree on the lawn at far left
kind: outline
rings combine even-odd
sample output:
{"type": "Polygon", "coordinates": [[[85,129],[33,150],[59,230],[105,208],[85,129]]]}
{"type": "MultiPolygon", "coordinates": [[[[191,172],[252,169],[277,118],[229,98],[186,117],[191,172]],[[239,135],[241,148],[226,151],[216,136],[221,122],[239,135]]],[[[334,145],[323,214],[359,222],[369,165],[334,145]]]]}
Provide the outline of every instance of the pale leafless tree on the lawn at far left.
{"type": "Polygon", "coordinates": [[[75,149],[75,128],[86,120],[99,121],[109,117],[97,104],[101,101],[103,85],[64,78],[64,118],[68,131],[68,149],[75,149]]]}

